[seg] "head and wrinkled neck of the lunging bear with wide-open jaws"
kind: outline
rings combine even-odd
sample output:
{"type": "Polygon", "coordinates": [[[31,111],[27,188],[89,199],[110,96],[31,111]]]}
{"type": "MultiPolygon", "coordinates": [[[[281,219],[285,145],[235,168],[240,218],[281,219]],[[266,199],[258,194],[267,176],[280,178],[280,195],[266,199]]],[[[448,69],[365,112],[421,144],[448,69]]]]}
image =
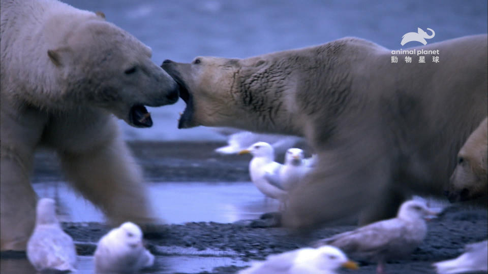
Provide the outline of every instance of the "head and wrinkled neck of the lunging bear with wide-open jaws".
{"type": "Polygon", "coordinates": [[[293,83],[286,60],[280,63],[277,54],[246,59],[200,56],[191,63],[165,60],[161,67],[178,83],[180,97],[187,104],[178,127],[232,126],[260,131],[256,123],[272,121],[283,111],[278,94],[293,83]]]}

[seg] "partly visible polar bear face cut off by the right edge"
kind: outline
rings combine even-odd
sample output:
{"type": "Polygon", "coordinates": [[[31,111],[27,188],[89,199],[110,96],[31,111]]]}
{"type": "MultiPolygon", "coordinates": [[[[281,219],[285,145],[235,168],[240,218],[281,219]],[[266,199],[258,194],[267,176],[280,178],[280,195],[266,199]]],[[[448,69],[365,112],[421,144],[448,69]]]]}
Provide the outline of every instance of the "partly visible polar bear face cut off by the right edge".
{"type": "MultiPolygon", "coordinates": [[[[488,118],[476,128],[457,154],[457,165],[448,187],[449,200],[464,201],[488,196],[488,118]]],[[[483,200],[481,200],[483,201],[483,200]]]]}

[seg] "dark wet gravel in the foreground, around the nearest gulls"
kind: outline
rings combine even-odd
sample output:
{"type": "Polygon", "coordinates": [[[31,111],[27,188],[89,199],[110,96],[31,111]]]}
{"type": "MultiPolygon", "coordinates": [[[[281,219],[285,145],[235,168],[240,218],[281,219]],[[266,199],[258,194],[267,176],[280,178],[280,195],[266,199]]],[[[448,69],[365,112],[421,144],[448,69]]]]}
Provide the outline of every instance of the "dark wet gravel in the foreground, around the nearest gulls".
{"type": "MultiPolygon", "coordinates": [[[[431,264],[459,256],[466,243],[479,242],[487,236],[485,210],[447,209],[439,218],[429,222],[429,233],[408,260],[391,261],[387,273],[434,273],[431,264]]],[[[77,244],[79,255],[93,255],[95,243],[110,229],[100,223],[63,223],[63,228],[77,244]]],[[[145,234],[148,249],[156,256],[169,256],[162,247],[193,247],[197,250],[213,249],[234,251],[243,261],[262,260],[267,255],[306,247],[311,242],[354,229],[355,226],[325,227],[300,233],[282,227],[259,228],[239,224],[186,223],[161,225],[161,232],[145,234]]],[[[235,273],[242,267],[228,266],[211,273],[235,273]]],[[[354,273],[375,273],[376,265],[360,262],[354,273]]],[[[344,270],[344,272],[349,272],[344,270]]]]}

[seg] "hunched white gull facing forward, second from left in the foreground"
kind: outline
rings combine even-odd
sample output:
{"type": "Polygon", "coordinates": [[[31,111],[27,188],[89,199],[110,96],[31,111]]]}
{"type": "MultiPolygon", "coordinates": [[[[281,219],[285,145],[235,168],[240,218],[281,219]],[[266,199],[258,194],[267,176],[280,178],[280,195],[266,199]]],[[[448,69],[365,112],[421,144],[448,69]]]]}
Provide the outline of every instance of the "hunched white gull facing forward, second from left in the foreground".
{"type": "Polygon", "coordinates": [[[126,222],[110,230],[98,242],[95,269],[102,273],[133,273],[154,263],[154,255],[142,245],[142,231],[126,222]]]}

